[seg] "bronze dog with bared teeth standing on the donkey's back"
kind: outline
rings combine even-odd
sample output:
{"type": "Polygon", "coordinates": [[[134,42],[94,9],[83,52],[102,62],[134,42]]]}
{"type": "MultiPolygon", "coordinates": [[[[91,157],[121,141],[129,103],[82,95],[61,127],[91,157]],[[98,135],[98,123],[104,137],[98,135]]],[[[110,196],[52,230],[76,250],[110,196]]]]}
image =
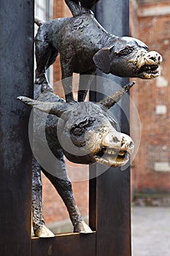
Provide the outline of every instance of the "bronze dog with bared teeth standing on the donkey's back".
{"type": "MultiPolygon", "coordinates": [[[[46,69],[61,56],[63,89],[66,102],[73,99],[72,74],[95,75],[96,69],[128,78],[156,78],[162,57],[149,52],[147,45],[132,37],[109,34],[94,18],[90,9],[97,1],[66,0],[74,17],[58,18],[50,22],[35,19],[39,26],[36,34],[36,83],[42,90],[49,89],[46,69]]],[[[78,101],[84,101],[92,76],[80,76],[78,101]]]]}

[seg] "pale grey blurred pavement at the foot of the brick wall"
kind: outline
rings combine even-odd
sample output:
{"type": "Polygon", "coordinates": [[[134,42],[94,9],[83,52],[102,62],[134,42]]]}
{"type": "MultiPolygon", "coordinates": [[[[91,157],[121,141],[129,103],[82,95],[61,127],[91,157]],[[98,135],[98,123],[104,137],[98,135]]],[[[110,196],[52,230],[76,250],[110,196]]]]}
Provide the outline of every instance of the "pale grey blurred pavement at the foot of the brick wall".
{"type": "Polygon", "coordinates": [[[170,255],[170,208],[132,208],[132,255],[170,255]]]}

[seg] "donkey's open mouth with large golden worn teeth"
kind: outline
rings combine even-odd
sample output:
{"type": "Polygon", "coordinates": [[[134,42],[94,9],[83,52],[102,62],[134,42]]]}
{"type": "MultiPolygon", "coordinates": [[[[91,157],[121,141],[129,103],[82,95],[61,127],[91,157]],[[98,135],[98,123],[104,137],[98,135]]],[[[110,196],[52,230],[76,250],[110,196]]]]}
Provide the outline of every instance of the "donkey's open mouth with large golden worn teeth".
{"type": "Polygon", "coordinates": [[[101,151],[98,151],[94,158],[99,164],[118,167],[127,164],[129,154],[127,151],[117,152],[114,148],[101,148],[101,151]]]}

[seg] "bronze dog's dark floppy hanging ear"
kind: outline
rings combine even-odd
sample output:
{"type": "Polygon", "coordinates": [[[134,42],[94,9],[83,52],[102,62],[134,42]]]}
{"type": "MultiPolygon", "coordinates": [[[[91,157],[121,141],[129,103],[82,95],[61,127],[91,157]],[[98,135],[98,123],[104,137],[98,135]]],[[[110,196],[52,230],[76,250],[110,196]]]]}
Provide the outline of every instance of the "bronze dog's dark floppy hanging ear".
{"type": "Polygon", "coordinates": [[[113,46],[109,48],[102,48],[93,56],[93,61],[96,64],[98,69],[101,69],[106,74],[109,74],[110,71],[110,50],[113,46]]]}

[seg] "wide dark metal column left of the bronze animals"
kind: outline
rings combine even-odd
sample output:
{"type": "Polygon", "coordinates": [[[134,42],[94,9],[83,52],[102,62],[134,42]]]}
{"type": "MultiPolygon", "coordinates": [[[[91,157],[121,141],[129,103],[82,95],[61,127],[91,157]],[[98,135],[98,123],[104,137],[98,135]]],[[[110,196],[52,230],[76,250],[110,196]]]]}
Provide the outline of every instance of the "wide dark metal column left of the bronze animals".
{"type": "Polygon", "coordinates": [[[0,2],[0,254],[31,255],[30,110],[16,100],[32,97],[34,1],[0,2]]]}

